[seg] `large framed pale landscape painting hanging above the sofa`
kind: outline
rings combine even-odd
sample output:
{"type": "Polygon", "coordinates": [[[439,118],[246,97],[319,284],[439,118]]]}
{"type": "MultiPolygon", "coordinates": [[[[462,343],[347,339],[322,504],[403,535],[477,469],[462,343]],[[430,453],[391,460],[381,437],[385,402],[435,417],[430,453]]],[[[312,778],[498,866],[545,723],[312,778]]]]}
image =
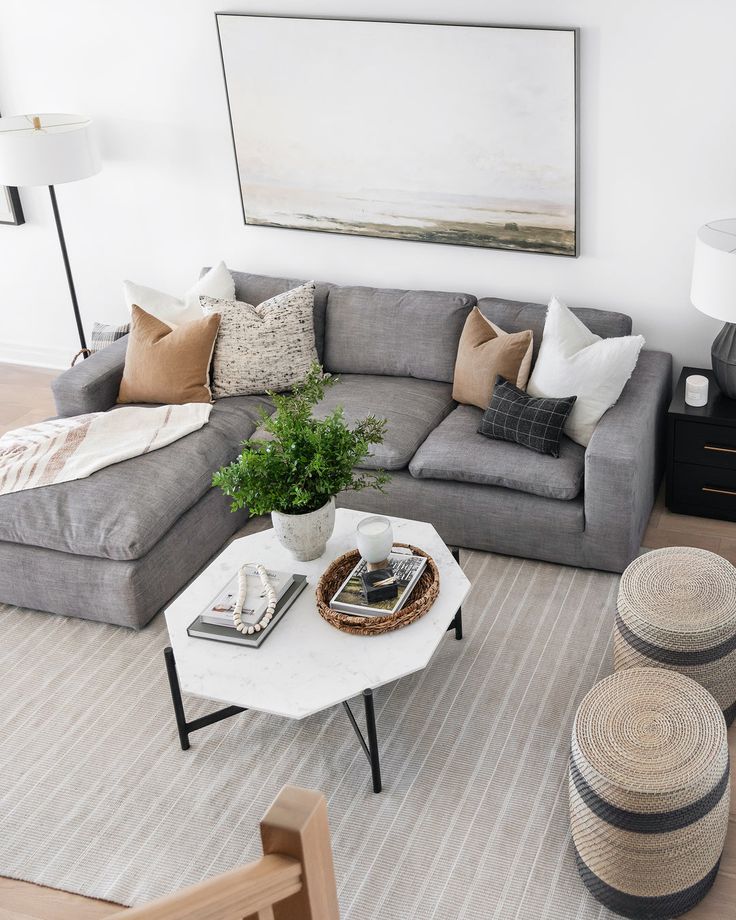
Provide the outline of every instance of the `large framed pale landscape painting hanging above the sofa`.
{"type": "Polygon", "coordinates": [[[577,255],[575,29],[217,26],[247,224],[577,255]]]}

